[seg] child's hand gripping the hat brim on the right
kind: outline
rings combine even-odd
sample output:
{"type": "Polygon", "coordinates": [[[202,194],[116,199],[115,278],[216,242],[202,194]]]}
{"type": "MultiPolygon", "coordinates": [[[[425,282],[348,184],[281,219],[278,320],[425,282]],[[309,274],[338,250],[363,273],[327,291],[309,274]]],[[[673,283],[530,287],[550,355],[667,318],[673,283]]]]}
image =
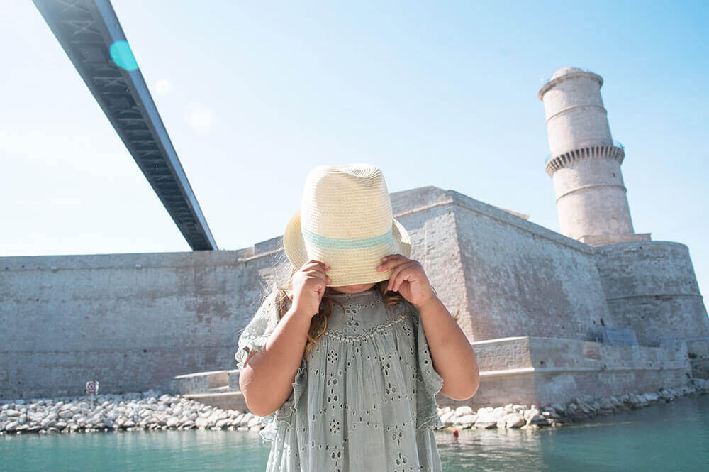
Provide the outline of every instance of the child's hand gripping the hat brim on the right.
{"type": "Polygon", "coordinates": [[[388,290],[398,291],[417,308],[431,297],[435,297],[431,284],[423,272],[423,266],[417,260],[406,258],[401,254],[390,254],[381,260],[382,264],[376,268],[377,271],[393,269],[388,290]]]}

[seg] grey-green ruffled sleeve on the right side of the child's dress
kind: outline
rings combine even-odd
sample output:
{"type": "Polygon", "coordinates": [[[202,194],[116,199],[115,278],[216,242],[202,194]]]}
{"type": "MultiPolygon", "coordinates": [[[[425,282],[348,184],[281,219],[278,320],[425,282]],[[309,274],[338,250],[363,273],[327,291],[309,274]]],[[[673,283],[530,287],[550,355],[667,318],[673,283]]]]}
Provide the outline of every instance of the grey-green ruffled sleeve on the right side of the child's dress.
{"type": "Polygon", "coordinates": [[[416,402],[418,405],[416,429],[441,428],[443,423],[438,416],[436,395],[443,387],[443,378],[433,368],[433,361],[428,348],[421,315],[413,304],[408,303],[413,319],[414,342],[416,344],[416,360],[418,366],[418,388],[416,402]]]}

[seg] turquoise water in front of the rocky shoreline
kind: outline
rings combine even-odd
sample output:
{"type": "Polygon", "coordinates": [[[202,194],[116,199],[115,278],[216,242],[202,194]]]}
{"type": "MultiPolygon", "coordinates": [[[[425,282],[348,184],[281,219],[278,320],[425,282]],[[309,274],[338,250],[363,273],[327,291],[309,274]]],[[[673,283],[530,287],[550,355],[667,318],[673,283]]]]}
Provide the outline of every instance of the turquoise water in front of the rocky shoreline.
{"type": "MultiPolygon", "coordinates": [[[[443,470],[709,471],[709,395],[536,432],[436,432],[443,470]]],[[[162,431],[0,437],[0,471],[262,471],[258,432],[162,431]]]]}

